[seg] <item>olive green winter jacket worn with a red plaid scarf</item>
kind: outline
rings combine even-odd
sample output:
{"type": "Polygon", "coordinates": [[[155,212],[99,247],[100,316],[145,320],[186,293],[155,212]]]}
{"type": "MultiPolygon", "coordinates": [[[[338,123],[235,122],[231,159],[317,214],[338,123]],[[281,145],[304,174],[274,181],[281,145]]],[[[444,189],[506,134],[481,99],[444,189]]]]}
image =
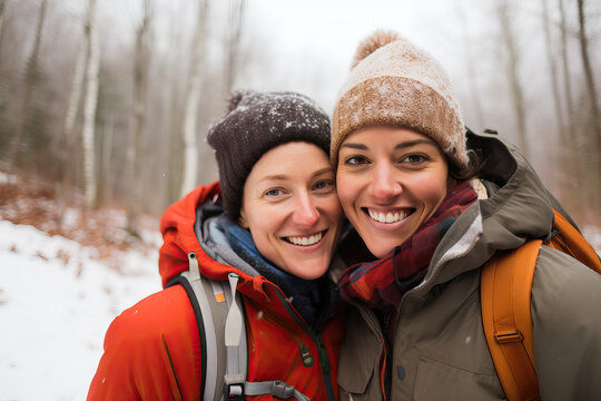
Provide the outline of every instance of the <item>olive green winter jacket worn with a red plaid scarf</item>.
{"type": "MultiPolygon", "coordinates": [[[[381,366],[392,359],[392,400],[502,400],[486,346],[480,272],[497,250],[551,231],[548,194],[528,162],[496,136],[469,136],[486,158],[489,198],[467,208],[439,244],[424,281],[407,292],[388,353],[367,309],[348,316],[341,397],[382,400],[381,366]],[[349,395],[349,397],[348,397],[349,395]]],[[[532,285],[534,359],[542,400],[601,400],[601,275],[543,246],[532,285]]]]}

